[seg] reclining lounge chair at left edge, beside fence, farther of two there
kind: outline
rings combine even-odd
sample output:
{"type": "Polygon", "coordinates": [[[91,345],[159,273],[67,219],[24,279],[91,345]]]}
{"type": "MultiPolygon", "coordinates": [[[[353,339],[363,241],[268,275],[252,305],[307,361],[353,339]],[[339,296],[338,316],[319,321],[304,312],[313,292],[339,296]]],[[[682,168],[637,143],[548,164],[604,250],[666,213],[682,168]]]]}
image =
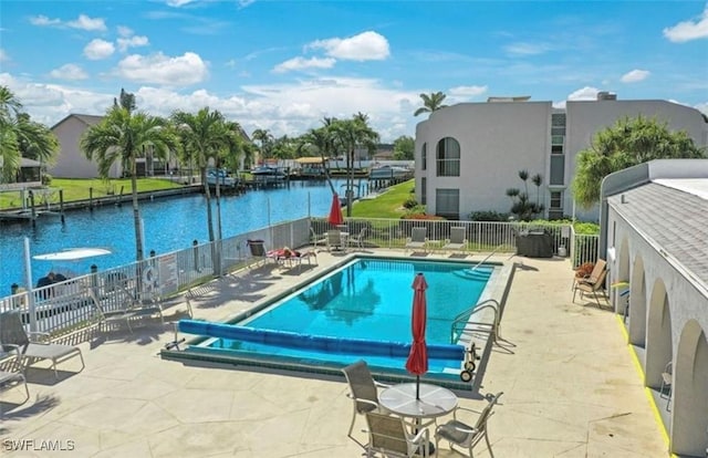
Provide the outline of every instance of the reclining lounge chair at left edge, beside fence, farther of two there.
{"type": "MultiPolygon", "coordinates": [[[[56,364],[70,360],[74,356],[81,358],[81,371],[85,367],[84,356],[81,353],[81,348],[71,345],[61,345],[49,342],[48,333],[24,331],[24,325],[20,319],[20,314],[17,311],[9,311],[0,313],[0,343],[2,345],[15,345],[20,351],[20,357],[23,360],[23,365],[31,364],[32,362],[49,360],[52,362],[52,368],[54,369],[54,376],[59,378],[59,372],[56,371],[56,364]],[[32,342],[30,336],[39,339],[39,342],[32,342]]],[[[27,366],[25,366],[27,367],[27,366]]]]}

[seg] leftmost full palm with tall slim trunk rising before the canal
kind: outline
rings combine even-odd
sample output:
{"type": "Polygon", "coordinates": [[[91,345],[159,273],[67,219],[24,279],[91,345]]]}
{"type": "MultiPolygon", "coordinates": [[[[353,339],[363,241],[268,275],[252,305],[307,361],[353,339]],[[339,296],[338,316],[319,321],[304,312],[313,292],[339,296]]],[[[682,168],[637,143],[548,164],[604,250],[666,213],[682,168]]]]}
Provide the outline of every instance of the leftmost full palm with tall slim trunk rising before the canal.
{"type": "Polygon", "coordinates": [[[132,114],[121,106],[108,110],[103,121],[90,127],[81,138],[81,149],[88,160],[95,160],[98,175],[107,178],[116,160],[131,175],[133,222],[136,260],[144,259],[140,211],[137,200],[136,159],[150,148],[158,157],[167,157],[175,147],[175,136],[165,119],[145,113],[132,114]]]}

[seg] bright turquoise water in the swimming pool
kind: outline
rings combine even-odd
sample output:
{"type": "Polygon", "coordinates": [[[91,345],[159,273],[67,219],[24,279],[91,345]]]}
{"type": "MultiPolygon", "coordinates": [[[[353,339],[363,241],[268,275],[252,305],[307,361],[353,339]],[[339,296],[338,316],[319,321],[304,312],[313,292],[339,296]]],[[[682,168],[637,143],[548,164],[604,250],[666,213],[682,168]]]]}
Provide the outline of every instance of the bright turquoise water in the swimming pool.
{"type": "MultiPolygon", "coordinates": [[[[493,271],[493,267],[483,266],[470,274],[470,267],[467,262],[357,258],[235,324],[296,333],[301,339],[314,335],[409,344],[412,284],[415,274],[423,272],[428,284],[426,341],[429,345],[450,344],[452,320],[462,312],[469,313],[479,302],[493,271]]],[[[325,352],[295,346],[300,345],[215,339],[197,351],[314,366],[341,367],[364,358],[387,373],[405,373],[407,355],[391,357],[366,354],[358,348],[325,352]]],[[[460,363],[459,360],[430,358],[426,376],[457,378],[460,363]]]]}

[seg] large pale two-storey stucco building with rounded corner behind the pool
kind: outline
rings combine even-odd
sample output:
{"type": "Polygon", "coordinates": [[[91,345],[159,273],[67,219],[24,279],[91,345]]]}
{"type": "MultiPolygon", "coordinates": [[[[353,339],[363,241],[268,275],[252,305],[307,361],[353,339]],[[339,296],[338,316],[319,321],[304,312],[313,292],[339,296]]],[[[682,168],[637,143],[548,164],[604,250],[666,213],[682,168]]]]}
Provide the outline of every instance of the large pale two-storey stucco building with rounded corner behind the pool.
{"type": "Polygon", "coordinates": [[[708,123],[699,111],[667,101],[618,101],[610,93],[568,101],[564,108],[529,97],[490,97],[435,111],[416,126],[416,199],[429,214],[455,219],[471,211],[509,212],[507,189],[524,190],[518,173],[525,169],[543,177],[540,187],[528,183],[531,200],[545,208],[543,217],[596,221],[596,208],[573,205],[577,153],[598,131],[638,115],[686,131],[697,146],[708,145],[708,123]]]}

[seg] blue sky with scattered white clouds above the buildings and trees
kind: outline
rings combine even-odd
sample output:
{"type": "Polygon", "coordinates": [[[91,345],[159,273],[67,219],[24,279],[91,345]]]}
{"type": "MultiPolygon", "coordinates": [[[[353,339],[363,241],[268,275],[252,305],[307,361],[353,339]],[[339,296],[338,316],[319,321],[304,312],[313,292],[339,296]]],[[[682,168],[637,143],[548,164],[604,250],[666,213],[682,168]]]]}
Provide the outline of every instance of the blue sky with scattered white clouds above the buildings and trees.
{"type": "Polygon", "coordinates": [[[382,142],[415,136],[438,91],[708,113],[708,2],[2,0],[0,85],[48,126],[125,89],[152,115],[208,106],[275,137],[361,112],[382,142]]]}

